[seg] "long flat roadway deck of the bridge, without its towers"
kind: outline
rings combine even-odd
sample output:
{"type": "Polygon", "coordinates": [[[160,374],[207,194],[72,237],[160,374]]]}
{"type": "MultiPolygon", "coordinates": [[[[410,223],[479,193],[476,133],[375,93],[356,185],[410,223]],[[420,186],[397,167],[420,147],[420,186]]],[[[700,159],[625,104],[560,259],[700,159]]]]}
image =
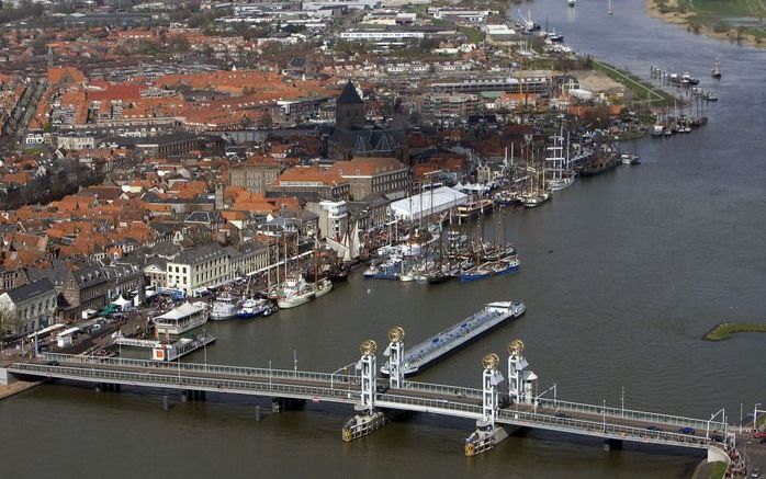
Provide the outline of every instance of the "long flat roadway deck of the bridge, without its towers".
{"type": "MultiPolygon", "coordinates": [[[[248,368],[190,363],[48,354],[41,360],[13,363],[9,372],[31,376],[90,383],[112,383],[166,389],[195,389],[249,396],[311,399],[335,403],[361,402],[359,376],[248,368]]],[[[405,381],[387,388],[379,379],[375,406],[403,411],[430,412],[472,420],[482,418],[478,389],[405,381]]],[[[498,422],[581,435],[691,448],[723,447],[706,432],[724,431],[725,424],[701,419],[602,408],[566,401],[544,400],[537,407],[512,404],[500,409],[498,422]],[[647,430],[647,426],[661,430],[647,430]],[[680,434],[692,427],[694,434],[680,434]]]]}

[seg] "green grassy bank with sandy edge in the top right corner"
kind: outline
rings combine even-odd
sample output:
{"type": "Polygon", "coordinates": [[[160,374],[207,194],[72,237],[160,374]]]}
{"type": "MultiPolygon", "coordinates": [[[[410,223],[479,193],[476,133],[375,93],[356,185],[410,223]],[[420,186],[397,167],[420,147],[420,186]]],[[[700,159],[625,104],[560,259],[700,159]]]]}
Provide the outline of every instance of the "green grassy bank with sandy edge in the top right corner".
{"type": "Polygon", "coordinates": [[[652,16],[739,44],[766,46],[766,5],[748,0],[645,0],[652,16]]]}

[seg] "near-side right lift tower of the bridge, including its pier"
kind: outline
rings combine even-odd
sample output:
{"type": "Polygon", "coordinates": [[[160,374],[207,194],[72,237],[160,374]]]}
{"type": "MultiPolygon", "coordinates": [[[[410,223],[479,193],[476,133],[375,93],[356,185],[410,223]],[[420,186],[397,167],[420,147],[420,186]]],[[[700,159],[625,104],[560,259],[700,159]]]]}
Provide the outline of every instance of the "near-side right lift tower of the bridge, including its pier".
{"type": "Polygon", "coordinates": [[[497,419],[497,386],[505,380],[497,369],[500,358],[492,353],[482,360],[482,419],[476,421],[476,430],[465,438],[465,455],[475,456],[495,447],[495,445],[508,437],[508,433],[502,425],[495,423],[497,419]]]}

